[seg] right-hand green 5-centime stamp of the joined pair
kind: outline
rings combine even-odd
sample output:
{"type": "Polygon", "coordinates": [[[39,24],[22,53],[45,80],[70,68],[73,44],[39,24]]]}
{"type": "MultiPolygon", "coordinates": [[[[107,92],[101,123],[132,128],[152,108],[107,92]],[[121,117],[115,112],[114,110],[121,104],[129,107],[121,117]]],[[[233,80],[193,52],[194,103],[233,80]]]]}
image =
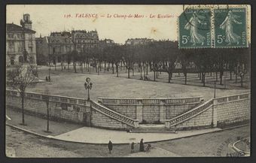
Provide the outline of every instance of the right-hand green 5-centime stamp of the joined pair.
{"type": "Polygon", "coordinates": [[[246,8],[214,8],[214,47],[248,47],[246,8]]]}

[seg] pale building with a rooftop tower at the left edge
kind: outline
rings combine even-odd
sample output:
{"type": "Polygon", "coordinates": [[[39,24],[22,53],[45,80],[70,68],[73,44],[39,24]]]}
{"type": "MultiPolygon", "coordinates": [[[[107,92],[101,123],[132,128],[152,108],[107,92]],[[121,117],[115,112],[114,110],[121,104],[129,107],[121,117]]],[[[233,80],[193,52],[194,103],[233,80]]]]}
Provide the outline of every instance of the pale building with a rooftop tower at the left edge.
{"type": "Polygon", "coordinates": [[[6,66],[23,62],[36,65],[35,31],[29,14],[23,15],[20,25],[6,24],[6,66]]]}

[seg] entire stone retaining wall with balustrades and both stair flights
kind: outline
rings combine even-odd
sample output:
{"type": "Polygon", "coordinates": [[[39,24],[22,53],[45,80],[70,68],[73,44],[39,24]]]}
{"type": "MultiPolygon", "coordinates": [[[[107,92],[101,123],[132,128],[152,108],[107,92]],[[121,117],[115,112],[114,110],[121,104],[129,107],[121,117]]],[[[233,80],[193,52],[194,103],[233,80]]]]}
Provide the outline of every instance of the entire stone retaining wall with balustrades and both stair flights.
{"type": "MultiPolygon", "coordinates": [[[[107,106],[104,107],[82,98],[26,92],[24,108],[30,113],[46,115],[49,101],[50,116],[55,119],[122,130],[136,128],[143,120],[166,122],[166,128],[183,129],[236,125],[250,119],[250,93],[215,98],[206,103],[201,99],[107,99],[102,102],[107,106]]],[[[6,108],[21,108],[18,92],[7,90],[5,102],[6,108]]]]}

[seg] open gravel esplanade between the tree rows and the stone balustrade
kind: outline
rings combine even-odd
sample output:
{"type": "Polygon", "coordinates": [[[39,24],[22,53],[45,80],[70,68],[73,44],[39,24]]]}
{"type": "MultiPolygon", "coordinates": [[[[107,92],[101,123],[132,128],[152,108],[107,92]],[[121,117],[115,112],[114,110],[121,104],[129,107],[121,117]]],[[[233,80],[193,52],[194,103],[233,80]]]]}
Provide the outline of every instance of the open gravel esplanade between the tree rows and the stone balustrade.
{"type": "MultiPolygon", "coordinates": [[[[41,69],[39,77],[44,79],[47,70],[41,69]]],[[[199,96],[207,100],[213,97],[214,89],[203,86],[185,86],[176,83],[151,82],[126,77],[115,77],[113,74],[79,74],[66,71],[51,71],[50,83],[38,83],[34,88],[26,91],[44,93],[49,89],[52,95],[65,95],[79,98],[87,98],[84,89],[84,81],[90,77],[93,89],[90,97],[97,100],[98,97],[111,98],[166,98],[166,97],[190,97],[199,96]]],[[[250,92],[250,89],[217,89],[216,96],[234,95],[242,92],[250,92]]]]}

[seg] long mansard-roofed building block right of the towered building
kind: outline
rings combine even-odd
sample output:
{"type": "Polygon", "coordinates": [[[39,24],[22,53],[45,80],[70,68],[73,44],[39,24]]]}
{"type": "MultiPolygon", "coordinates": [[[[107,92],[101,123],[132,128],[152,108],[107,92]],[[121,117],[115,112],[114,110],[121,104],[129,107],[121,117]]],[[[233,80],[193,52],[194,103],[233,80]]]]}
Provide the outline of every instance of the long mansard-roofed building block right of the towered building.
{"type": "Polygon", "coordinates": [[[50,60],[62,62],[66,54],[76,50],[78,53],[99,45],[95,31],[72,30],[72,32],[51,32],[50,36],[36,38],[38,64],[45,65],[50,60]]]}

